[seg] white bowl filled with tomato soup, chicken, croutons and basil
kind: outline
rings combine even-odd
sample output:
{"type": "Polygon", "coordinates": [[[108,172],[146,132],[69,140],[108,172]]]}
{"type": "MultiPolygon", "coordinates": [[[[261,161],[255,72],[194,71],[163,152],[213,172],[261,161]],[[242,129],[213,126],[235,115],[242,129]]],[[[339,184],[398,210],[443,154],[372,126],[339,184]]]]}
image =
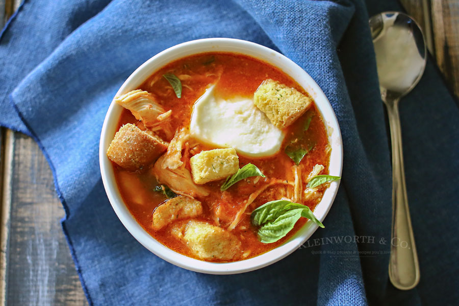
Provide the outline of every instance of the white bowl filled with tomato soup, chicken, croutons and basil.
{"type": "Polygon", "coordinates": [[[121,86],[101,133],[115,213],[148,250],[204,273],[287,256],[336,196],[342,142],[314,80],[256,43],[176,45],[121,86]]]}

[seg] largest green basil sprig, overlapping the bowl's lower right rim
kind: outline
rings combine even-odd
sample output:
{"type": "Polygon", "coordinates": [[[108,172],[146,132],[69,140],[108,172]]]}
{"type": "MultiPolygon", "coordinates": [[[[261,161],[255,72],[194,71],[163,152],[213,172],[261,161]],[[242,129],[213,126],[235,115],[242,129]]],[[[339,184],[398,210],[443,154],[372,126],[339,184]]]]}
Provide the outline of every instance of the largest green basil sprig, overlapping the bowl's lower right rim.
{"type": "Polygon", "coordinates": [[[285,237],[300,217],[308,218],[318,226],[324,227],[308,206],[288,200],[270,201],[254,209],[251,223],[254,226],[261,225],[258,231],[261,242],[273,243],[285,237]]]}

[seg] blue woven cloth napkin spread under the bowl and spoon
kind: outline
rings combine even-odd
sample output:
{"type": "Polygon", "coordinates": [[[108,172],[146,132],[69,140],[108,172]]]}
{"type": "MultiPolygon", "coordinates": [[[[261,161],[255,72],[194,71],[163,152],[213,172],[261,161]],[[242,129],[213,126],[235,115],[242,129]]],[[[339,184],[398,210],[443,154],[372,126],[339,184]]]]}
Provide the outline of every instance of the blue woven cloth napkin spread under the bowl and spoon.
{"type": "Polygon", "coordinates": [[[49,161],[89,303],[456,304],[459,110],[430,59],[400,109],[421,281],[406,292],[388,281],[390,151],[368,28],[369,16],[387,10],[400,7],[26,0],[0,36],[0,122],[33,136],[49,161]],[[344,142],[343,179],[325,228],[284,260],[238,275],[187,271],[147,251],[114,214],[99,174],[100,130],[122,82],[158,52],[205,37],[254,41],[299,64],[333,105],[344,142]]]}

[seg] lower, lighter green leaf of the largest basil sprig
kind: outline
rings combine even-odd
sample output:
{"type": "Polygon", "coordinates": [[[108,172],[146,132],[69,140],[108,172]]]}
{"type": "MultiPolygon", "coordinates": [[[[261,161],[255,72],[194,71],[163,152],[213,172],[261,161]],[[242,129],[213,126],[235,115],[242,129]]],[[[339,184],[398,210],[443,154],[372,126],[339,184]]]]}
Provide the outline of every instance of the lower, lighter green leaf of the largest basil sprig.
{"type": "Polygon", "coordinates": [[[301,218],[302,208],[286,211],[275,220],[263,224],[258,230],[258,237],[263,243],[273,243],[285,237],[301,218]]]}

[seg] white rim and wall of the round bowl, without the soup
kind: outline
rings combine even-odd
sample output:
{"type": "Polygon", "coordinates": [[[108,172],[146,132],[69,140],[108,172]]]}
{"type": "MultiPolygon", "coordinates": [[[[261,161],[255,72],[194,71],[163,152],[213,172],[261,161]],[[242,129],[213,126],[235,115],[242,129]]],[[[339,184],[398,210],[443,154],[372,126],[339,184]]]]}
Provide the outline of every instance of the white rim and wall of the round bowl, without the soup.
{"type": "MultiPolygon", "coordinates": [[[[314,98],[327,129],[328,142],[331,145],[329,174],[341,176],[343,164],[341,132],[335,113],[325,97],[325,94],[320,89],[319,85],[317,85],[317,83],[306,72],[304,72],[301,67],[284,55],[257,43],[230,38],[207,38],[192,40],[175,45],[143,63],[129,78],[127,78],[116,94],[119,95],[121,93],[137,89],[138,86],[140,86],[150,75],[176,59],[204,52],[233,52],[258,58],[283,70],[283,72],[291,76],[300,86],[308,91],[312,98],[314,98]]],[[[278,246],[277,248],[262,255],[232,263],[210,263],[199,261],[165,247],[151,237],[139,225],[139,223],[137,223],[125,206],[116,185],[112,164],[106,154],[110,142],[116,132],[117,122],[119,120],[121,110],[121,106],[112,102],[107,111],[102,133],[100,135],[99,163],[102,180],[110,203],[112,204],[119,220],[121,220],[126,229],[129,230],[132,236],[134,236],[134,238],[137,239],[137,241],[139,241],[144,247],[163,258],[165,261],[188,270],[202,273],[236,274],[248,272],[260,269],[281,260],[300,247],[317,229],[317,225],[309,220],[283,245],[278,246]]],[[[314,210],[314,215],[321,222],[323,222],[331,204],[333,203],[333,200],[335,199],[338,192],[338,186],[339,181],[331,182],[329,188],[325,191],[322,200],[314,210]]]]}

